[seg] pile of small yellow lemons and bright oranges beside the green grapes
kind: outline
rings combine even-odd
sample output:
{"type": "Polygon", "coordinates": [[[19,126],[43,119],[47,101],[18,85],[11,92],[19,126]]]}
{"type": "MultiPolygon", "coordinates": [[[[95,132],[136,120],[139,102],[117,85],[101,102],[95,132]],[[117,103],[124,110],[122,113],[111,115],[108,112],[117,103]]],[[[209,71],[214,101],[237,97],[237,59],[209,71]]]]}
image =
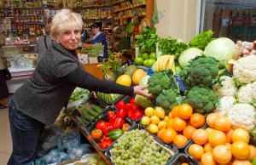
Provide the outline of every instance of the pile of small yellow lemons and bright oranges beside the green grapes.
{"type": "Polygon", "coordinates": [[[148,126],[152,134],[163,140],[166,144],[174,144],[183,147],[192,134],[201,128],[206,122],[205,117],[199,113],[193,114],[193,109],[188,104],[173,107],[172,111],[166,116],[165,111],[156,107],[148,107],[145,110],[145,117],[142,124],[148,126]]]}

